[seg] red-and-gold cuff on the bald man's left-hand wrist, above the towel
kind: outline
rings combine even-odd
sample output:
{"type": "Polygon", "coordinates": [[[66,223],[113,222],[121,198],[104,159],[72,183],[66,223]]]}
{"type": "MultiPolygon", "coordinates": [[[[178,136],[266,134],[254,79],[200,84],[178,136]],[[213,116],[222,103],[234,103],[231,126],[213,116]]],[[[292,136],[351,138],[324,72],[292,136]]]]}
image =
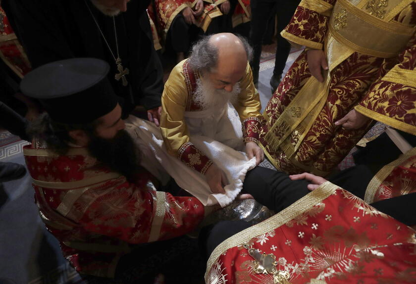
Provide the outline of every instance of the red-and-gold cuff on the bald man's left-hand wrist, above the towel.
{"type": "Polygon", "coordinates": [[[205,174],[212,165],[212,161],[191,142],[186,142],[180,147],[178,158],[201,174],[205,174]]]}

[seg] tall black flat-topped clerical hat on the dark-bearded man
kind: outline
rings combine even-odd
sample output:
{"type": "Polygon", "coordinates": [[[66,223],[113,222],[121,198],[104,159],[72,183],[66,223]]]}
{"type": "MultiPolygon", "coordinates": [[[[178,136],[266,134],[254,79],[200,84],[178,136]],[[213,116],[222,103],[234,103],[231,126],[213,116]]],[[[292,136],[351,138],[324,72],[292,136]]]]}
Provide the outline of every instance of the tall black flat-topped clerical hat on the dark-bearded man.
{"type": "Polygon", "coordinates": [[[107,62],[96,58],[55,61],[26,74],[20,90],[39,99],[56,122],[89,123],[117,105],[107,79],[109,69],[107,62]]]}

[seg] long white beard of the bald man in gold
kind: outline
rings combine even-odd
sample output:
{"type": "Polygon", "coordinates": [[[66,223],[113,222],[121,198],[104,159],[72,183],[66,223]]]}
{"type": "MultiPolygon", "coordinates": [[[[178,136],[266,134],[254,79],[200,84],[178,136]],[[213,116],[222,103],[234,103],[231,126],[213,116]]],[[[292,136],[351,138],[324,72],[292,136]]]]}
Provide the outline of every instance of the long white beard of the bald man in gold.
{"type": "Polygon", "coordinates": [[[203,109],[212,107],[222,107],[228,102],[233,104],[236,102],[238,95],[241,92],[240,83],[234,85],[231,92],[223,89],[215,89],[208,80],[197,79],[197,88],[194,94],[194,101],[203,109]]]}

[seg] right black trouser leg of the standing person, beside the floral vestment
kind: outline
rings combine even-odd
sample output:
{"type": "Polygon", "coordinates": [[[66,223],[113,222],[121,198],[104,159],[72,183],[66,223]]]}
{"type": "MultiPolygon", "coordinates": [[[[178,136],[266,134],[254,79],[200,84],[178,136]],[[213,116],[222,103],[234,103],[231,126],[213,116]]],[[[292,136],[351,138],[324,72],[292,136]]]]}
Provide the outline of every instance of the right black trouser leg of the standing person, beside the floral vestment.
{"type": "Polygon", "coordinates": [[[280,32],[289,24],[290,19],[295,13],[296,7],[299,4],[299,0],[280,0],[278,1],[277,9],[277,47],[276,47],[276,59],[274,61],[273,76],[276,79],[280,79],[280,76],[285,69],[287,57],[290,52],[290,43],[282,38],[280,32]]]}

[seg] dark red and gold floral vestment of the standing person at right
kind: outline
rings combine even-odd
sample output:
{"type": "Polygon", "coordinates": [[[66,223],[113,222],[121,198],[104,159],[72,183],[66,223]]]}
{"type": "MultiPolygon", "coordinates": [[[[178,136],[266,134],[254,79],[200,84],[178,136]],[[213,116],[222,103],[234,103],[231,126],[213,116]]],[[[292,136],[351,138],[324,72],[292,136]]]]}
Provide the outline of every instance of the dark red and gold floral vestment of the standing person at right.
{"type": "Polygon", "coordinates": [[[323,49],[329,70],[319,83],[303,51],[268,102],[260,142],[277,169],[328,174],[368,130],[335,126],[354,108],[416,134],[415,25],[412,0],[301,1],[282,36],[323,49]]]}

